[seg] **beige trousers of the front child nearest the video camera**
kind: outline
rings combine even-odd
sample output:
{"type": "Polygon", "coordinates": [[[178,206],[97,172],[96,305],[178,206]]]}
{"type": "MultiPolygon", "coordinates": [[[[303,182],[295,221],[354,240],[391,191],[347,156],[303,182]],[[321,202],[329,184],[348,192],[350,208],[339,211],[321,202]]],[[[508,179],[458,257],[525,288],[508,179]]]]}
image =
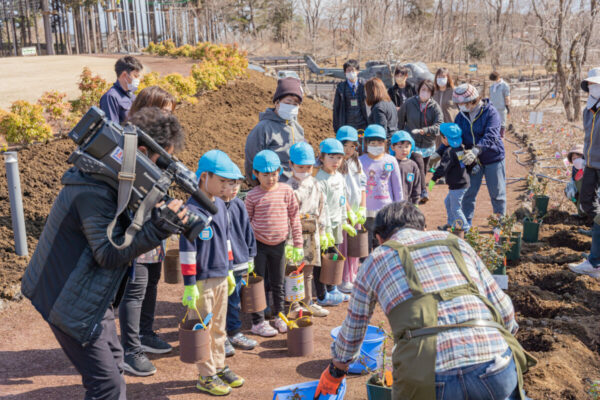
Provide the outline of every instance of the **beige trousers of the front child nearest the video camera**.
{"type": "Polygon", "coordinates": [[[210,321],[210,358],[197,363],[200,376],[214,376],[225,367],[225,340],[227,339],[227,278],[209,278],[196,282],[200,299],[196,306],[203,318],[213,313],[210,321]]]}

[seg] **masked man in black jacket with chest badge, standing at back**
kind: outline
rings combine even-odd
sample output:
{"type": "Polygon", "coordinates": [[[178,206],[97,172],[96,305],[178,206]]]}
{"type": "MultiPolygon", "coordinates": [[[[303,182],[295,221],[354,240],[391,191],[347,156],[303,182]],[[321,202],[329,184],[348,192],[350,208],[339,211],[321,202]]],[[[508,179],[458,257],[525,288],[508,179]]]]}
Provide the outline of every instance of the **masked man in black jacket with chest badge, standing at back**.
{"type": "Polygon", "coordinates": [[[350,125],[356,130],[364,130],[368,125],[365,86],[358,80],[358,70],[358,61],[348,60],[344,63],[346,80],[337,85],[333,98],[335,132],[344,125],[350,125]]]}

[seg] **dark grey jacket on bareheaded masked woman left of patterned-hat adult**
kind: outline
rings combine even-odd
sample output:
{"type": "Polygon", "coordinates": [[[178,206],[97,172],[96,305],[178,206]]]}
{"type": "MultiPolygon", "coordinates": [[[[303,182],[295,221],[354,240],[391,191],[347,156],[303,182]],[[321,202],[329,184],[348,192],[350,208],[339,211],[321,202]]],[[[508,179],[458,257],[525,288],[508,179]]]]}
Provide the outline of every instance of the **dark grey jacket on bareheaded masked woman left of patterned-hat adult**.
{"type": "Polygon", "coordinates": [[[440,125],[444,122],[442,109],[433,99],[429,99],[425,110],[421,112],[419,96],[406,100],[398,110],[398,129],[407,131],[420,148],[435,145],[435,137],[440,134],[440,125]],[[427,118],[425,118],[427,116],[427,118]],[[423,135],[413,135],[413,129],[423,129],[423,135]]]}

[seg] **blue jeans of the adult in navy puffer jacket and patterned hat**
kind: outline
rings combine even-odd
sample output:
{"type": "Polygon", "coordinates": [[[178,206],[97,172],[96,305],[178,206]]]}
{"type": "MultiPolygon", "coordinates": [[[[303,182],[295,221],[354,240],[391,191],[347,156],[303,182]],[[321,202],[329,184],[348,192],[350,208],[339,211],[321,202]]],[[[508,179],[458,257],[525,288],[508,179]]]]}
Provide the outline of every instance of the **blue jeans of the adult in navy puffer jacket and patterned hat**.
{"type": "Polygon", "coordinates": [[[478,173],[471,175],[471,186],[463,198],[463,212],[469,225],[473,224],[475,201],[484,174],[494,213],[506,214],[506,170],[504,160],[502,160],[493,164],[482,165],[478,173]]]}

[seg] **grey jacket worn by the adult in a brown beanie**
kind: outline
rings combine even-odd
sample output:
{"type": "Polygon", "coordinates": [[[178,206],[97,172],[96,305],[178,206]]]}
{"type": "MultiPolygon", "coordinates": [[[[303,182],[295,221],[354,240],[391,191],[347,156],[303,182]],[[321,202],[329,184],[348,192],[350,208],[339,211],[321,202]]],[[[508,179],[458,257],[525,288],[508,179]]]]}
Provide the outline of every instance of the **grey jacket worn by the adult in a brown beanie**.
{"type": "Polygon", "coordinates": [[[265,112],[260,113],[258,119],[258,124],[246,138],[244,168],[248,182],[256,183],[252,180],[252,161],[262,150],[277,153],[283,168],[283,175],[279,181],[285,182],[292,176],[289,163],[290,147],[294,143],[304,142],[304,129],[296,120],[286,121],[281,118],[274,108],[267,108],[265,112]]]}

